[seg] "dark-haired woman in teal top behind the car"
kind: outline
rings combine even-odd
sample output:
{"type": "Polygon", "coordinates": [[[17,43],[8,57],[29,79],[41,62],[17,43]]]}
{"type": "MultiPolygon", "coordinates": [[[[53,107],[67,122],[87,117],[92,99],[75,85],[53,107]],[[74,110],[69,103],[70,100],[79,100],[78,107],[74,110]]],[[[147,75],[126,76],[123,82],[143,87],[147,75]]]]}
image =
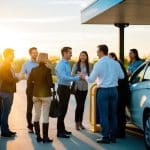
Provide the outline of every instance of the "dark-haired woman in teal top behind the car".
{"type": "Polygon", "coordinates": [[[137,49],[130,49],[129,58],[128,76],[130,76],[143,63],[139,57],[137,49]]]}

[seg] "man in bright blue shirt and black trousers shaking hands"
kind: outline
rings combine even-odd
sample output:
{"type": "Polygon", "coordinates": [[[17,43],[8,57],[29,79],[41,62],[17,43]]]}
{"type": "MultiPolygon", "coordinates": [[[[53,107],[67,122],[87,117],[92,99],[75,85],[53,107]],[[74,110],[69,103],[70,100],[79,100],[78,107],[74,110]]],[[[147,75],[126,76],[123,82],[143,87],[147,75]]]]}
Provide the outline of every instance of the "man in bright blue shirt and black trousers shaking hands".
{"type": "Polygon", "coordinates": [[[71,76],[71,67],[69,60],[72,56],[71,47],[63,47],[61,50],[62,60],[56,66],[56,75],[58,78],[58,96],[60,116],[57,120],[57,137],[69,138],[71,132],[65,129],[64,119],[68,109],[70,98],[70,84],[72,81],[79,80],[79,76],[71,76]]]}

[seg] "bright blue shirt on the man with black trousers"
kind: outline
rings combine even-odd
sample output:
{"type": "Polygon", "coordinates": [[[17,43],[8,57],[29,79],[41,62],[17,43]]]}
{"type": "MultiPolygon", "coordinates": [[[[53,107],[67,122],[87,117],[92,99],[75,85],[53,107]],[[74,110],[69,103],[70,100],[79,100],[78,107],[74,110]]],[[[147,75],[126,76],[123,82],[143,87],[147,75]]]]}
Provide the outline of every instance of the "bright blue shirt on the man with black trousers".
{"type": "Polygon", "coordinates": [[[71,76],[71,67],[67,60],[62,59],[56,65],[56,75],[58,84],[70,86],[72,81],[79,80],[79,76],[72,77],[71,76]]]}

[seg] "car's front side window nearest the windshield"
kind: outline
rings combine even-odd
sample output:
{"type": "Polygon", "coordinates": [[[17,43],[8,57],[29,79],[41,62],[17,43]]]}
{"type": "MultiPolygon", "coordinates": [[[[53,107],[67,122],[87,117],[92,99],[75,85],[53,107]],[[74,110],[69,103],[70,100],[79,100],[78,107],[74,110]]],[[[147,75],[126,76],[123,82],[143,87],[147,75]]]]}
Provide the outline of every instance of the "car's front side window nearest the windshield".
{"type": "Polygon", "coordinates": [[[131,77],[130,83],[137,83],[143,80],[143,76],[145,73],[145,66],[146,64],[144,64],[143,66],[141,66],[131,77]]]}

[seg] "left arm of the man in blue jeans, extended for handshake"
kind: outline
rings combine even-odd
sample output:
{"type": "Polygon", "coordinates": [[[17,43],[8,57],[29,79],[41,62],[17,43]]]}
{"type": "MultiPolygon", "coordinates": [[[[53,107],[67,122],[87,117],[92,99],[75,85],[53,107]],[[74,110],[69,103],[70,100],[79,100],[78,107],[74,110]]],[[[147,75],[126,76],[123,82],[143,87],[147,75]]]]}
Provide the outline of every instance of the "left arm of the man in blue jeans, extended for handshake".
{"type": "Polygon", "coordinates": [[[98,70],[100,70],[100,66],[95,64],[90,76],[86,76],[85,80],[89,83],[93,83],[98,77],[98,70]]]}

